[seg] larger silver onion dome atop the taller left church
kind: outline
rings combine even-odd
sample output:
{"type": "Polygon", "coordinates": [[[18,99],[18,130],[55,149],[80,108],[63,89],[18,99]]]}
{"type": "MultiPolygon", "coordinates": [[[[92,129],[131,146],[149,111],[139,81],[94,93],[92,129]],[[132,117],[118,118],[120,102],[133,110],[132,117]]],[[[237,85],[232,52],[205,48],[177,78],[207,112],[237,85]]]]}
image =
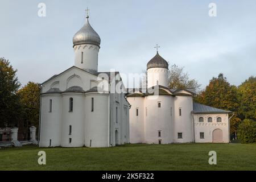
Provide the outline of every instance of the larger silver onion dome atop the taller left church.
{"type": "Polygon", "coordinates": [[[86,22],[84,26],[73,36],[74,46],[79,44],[94,44],[96,46],[100,46],[101,38],[90,26],[88,18],[89,16],[86,16],[86,22]]]}

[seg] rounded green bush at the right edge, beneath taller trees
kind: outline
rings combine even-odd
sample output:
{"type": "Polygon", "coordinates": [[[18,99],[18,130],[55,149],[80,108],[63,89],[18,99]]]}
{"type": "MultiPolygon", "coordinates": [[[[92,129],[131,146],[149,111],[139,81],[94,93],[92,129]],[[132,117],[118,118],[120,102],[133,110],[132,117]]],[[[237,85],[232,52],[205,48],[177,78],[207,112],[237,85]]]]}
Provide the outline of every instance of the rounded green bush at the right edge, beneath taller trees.
{"type": "Polygon", "coordinates": [[[241,143],[256,142],[256,122],[252,119],[243,120],[238,126],[237,137],[241,143]]]}

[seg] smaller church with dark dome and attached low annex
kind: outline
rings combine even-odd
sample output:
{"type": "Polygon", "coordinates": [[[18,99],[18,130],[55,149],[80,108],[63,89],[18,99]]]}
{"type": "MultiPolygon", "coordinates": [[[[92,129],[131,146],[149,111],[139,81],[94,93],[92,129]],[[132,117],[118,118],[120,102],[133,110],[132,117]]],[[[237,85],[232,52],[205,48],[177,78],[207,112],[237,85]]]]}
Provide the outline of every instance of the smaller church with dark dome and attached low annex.
{"type": "Polygon", "coordinates": [[[147,89],[127,89],[130,143],[229,142],[230,111],[193,102],[194,89],[168,88],[168,63],[147,63],[147,89]]]}

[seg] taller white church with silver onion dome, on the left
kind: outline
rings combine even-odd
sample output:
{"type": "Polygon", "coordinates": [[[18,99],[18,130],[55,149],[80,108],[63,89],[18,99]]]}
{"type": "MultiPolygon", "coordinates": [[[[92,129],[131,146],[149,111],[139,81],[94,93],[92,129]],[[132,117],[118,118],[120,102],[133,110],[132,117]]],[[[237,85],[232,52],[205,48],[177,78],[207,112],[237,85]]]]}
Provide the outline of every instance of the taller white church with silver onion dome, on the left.
{"type": "Polygon", "coordinates": [[[118,72],[98,72],[101,39],[88,18],[73,37],[75,66],[41,85],[40,147],[129,143],[126,89],[118,72]],[[112,85],[117,84],[122,92],[110,93],[112,85]]]}

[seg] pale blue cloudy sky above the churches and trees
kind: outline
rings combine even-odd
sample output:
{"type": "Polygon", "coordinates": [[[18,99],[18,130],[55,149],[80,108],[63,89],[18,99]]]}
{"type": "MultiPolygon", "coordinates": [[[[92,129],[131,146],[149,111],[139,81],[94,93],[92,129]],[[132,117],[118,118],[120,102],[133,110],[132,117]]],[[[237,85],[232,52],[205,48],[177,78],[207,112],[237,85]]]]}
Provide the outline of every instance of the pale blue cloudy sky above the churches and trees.
{"type": "Polygon", "coordinates": [[[164,59],[185,67],[202,88],[222,72],[239,85],[256,75],[256,1],[0,0],[0,56],[19,81],[43,82],[74,64],[72,37],[86,7],[101,37],[99,71],[141,73],[160,45],[164,59]],[[38,4],[46,3],[46,17],[38,4]],[[208,5],[217,5],[217,17],[208,5]]]}

